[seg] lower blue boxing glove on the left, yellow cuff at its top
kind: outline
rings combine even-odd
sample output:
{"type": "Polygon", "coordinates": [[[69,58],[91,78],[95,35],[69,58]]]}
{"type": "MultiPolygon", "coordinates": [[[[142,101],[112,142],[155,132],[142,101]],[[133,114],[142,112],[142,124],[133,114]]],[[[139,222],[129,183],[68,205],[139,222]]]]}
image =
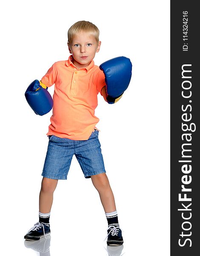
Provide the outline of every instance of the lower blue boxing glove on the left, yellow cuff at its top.
{"type": "Polygon", "coordinates": [[[53,99],[46,86],[38,80],[34,80],[25,92],[25,97],[32,110],[40,116],[48,113],[53,107],[53,99]]]}

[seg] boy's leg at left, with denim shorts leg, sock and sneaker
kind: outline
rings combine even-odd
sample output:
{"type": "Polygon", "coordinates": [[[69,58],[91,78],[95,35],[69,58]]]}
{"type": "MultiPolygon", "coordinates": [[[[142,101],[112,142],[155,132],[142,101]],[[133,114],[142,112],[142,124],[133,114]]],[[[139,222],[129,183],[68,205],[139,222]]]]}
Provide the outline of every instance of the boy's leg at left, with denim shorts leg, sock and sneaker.
{"type": "Polygon", "coordinates": [[[27,240],[39,240],[50,234],[50,211],[53,193],[58,180],[66,180],[71,159],[74,154],[74,141],[49,136],[49,145],[43,167],[43,180],[39,200],[39,222],[24,236],[27,240]]]}

